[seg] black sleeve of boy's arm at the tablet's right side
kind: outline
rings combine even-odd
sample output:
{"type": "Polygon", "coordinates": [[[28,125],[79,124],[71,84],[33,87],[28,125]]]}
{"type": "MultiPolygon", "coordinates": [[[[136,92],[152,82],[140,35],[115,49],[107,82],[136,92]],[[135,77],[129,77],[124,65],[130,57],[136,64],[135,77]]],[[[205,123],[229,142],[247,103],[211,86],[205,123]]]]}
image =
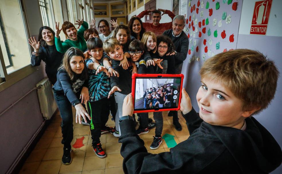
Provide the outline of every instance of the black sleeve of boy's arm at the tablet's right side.
{"type": "Polygon", "coordinates": [[[183,114],[181,112],[183,118],[186,120],[186,124],[188,126],[189,133],[195,131],[195,129],[199,128],[203,120],[199,117],[199,114],[195,111],[194,108],[187,114],[183,114]]]}

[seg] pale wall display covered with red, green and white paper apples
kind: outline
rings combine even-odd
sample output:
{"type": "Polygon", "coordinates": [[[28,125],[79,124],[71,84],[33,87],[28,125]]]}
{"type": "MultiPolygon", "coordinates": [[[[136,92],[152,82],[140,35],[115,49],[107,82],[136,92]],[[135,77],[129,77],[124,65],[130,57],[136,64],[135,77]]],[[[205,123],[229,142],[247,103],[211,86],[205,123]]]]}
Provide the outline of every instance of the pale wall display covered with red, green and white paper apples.
{"type": "Polygon", "coordinates": [[[188,0],[189,63],[236,49],[241,10],[242,0],[188,0]]]}

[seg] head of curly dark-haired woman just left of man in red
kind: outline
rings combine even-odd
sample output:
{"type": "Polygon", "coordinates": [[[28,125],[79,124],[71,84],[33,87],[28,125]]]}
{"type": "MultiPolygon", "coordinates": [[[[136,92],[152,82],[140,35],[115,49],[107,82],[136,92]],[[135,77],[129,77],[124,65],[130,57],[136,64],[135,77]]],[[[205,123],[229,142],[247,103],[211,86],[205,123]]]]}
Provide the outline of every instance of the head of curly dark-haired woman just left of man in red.
{"type": "Polygon", "coordinates": [[[132,17],[128,22],[128,27],[130,29],[131,40],[141,40],[143,33],[146,32],[141,19],[138,17],[132,17]]]}

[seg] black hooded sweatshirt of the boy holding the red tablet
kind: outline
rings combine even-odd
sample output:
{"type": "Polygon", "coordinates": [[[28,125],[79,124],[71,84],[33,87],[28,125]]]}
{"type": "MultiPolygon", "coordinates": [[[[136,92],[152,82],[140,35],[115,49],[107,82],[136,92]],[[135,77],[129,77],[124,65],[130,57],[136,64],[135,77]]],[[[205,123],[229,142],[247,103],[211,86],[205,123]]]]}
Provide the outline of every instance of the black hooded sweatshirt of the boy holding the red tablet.
{"type": "Polygon", "coordinates": [[[190,137],[159,154],[147,152],[133,120],[120,122],[124,173],[270,173],[281,165],[279,144],[253,117],[245,131],[208,124],[194,109],[183,117],[190,137]]]}

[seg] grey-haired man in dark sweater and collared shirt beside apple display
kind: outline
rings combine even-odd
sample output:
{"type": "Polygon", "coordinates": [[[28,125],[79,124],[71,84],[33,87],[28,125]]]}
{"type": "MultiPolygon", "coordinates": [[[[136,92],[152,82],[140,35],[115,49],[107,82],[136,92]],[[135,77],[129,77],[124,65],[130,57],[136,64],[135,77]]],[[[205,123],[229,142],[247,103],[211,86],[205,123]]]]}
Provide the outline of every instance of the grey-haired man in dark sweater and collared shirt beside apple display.
{"type": "MultiPolygon", "coordinates": [[[[183,61],[187,57],[189,39],[183,28],[185,26],[185,18],[183,15],[177,15],[173,18],[172,21],[172,29],[164,31],[163,35],[166,35],[171,38],[171,41],[174,44],[175,51],[175,74],[180,74],[183,66],[183,61]]],[[[173,124],[175,125],[175,129],[177,131],[182,130],[182,126],[179,123],[179,118],[177,111],[170,111],[168,116],[173,116],[173,124]]]]}

